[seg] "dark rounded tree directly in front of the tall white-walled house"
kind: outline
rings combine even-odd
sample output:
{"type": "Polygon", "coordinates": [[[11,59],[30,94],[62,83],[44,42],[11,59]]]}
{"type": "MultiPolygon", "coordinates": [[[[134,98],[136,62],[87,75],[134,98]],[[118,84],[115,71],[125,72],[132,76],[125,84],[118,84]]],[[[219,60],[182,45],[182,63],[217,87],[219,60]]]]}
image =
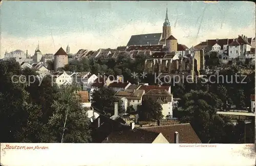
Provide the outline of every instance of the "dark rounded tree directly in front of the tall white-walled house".
{"type": "Polygon", "coordinates": [[[162,109],[161,104],[152,98],[143,100],[138,106],[139,119],[145,121],[161,120],[163,118],[162,109]]]}

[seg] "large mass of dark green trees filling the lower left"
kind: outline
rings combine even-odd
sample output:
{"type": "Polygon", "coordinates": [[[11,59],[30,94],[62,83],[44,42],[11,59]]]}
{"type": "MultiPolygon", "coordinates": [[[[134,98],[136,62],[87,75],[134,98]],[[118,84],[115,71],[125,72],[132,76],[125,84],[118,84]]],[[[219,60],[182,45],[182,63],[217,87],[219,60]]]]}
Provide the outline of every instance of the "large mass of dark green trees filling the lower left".
{"type": "Polygon", "coordinates": [[[20,74],[28,78],[37,73],[20,69],[13,60],[1,61],[0,71],[1,142],[90,141],[89,119],[75,97],[76,87],[59,89],[52,84],[51,76],[42,79],[41,84],[38,79],[31,85],[25,78],[19,81],[20,74]],[[17,76],[12,79],[13,75],[17,76]]]}

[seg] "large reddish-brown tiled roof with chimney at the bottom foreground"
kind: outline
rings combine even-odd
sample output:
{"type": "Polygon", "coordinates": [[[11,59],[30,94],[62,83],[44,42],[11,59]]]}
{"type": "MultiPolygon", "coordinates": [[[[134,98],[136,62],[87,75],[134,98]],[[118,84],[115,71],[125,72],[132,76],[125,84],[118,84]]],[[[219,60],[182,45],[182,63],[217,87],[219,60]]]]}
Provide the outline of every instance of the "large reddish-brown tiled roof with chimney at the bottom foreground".
{"type": "Polygon", "coordinates": [[[142,127],[144,130],[162,133],[169,143],[174,143],[174,132],[179,133],[179,144],[201,144],[201,140],[189,123],[142,127]]]}

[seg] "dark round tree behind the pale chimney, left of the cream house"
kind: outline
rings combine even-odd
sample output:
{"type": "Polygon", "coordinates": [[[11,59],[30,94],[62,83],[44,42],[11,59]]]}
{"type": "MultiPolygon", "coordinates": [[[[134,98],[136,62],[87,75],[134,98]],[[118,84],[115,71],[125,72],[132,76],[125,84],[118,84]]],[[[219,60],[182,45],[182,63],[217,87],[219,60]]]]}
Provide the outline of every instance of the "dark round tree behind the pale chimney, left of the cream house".
{"type": "Polygon", "coordinates": [[[118,113],[123,113],[123,108],[120,99],[116,98],[115,92],[110,88],[100,88],[92,93],[92,106],[98,111],[111,117],[114,115],[114,103],[118,102],[118,113]]]}

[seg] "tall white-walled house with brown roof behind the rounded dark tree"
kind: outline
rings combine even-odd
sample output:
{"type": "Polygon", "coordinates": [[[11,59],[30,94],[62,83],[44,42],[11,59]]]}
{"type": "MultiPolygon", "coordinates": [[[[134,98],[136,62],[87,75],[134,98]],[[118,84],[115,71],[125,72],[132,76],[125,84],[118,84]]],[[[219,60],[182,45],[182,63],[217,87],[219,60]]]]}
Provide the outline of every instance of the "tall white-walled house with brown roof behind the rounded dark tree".
{"type": "Polygon", "coordinates": [[[150,90],[143,95],[142,100],[152,98],[159,102],[162,106],[162,114],[164,118],[173,117],[173,95],[166,90],[150,90]]]}

